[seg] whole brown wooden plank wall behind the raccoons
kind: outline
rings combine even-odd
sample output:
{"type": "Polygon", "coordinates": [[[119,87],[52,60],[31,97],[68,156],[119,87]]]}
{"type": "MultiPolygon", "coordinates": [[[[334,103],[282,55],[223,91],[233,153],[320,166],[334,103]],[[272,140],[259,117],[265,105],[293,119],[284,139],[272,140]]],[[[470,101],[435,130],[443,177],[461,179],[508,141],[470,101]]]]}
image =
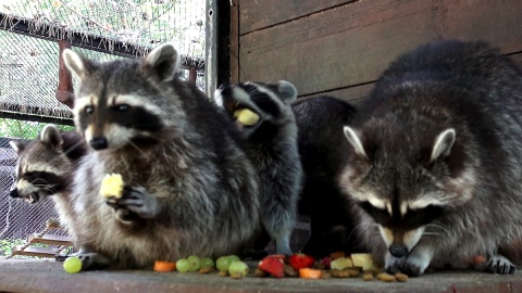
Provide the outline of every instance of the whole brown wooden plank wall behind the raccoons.
{"type": "Polygon", "coordinates": [[[483,39],[522,63],[521,0],[233,0],[232,81],[293,82],[357,102],[399,54],[483,39]]]}

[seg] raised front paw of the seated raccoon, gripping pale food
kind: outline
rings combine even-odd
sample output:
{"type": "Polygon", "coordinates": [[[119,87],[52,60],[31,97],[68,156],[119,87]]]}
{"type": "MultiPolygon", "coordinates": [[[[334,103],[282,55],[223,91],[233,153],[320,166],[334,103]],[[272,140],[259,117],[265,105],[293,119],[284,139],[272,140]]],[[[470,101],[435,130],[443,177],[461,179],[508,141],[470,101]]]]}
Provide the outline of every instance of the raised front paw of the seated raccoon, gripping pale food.
{"type": "Polygon", "coordinates": [[[144,219],[154,218],[160,213],[158,200],[142,187],[125,186],[122,198],[115,201],[115,205],[116,209],[127,209],[144,219]]]}

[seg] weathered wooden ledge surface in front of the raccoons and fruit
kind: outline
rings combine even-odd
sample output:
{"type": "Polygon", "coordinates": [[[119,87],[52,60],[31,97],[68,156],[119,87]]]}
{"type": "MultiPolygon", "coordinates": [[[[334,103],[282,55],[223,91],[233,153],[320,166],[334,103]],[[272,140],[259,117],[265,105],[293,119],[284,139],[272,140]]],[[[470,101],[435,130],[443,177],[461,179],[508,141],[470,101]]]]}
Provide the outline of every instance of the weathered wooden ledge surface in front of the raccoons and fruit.
{"type": "Polygon", "coordinates": [[[406,283],[362,279],[304,280],[216,275],[103,270],[70,275],[53,259],[0,258],[0,292],[474,292],[522,293],[522,271],[513,276],[478,272],[431,272],[406,283]]]}

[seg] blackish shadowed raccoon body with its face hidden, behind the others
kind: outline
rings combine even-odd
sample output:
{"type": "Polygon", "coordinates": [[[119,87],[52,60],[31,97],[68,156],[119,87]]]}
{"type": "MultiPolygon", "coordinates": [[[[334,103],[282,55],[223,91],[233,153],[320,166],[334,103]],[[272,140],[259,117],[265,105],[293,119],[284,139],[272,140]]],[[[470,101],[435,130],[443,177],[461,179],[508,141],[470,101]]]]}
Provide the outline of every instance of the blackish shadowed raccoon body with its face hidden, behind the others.
{"type": "Polygon", "coordinates": [[[295,102],[293,110],[304,171],[299,213],[310,217],[311,234],[303,252],[316,257],[360,252],[349,202],[335,180],[343,167],[343,126],[351,123],[356,109],[337,98],[319,95],[295,102]]]}

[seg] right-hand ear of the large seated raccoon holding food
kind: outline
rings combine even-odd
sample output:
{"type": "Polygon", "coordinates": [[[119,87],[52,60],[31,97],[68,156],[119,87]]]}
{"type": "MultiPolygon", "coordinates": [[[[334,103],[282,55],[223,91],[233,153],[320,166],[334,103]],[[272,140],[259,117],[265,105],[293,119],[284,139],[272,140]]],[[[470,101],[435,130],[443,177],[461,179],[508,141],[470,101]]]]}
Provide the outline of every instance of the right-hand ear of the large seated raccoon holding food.
{"type": "Polygon", "coordinates": [[[179,67],[179,54],[170,42],[162,43],[145,58],[141,66],[147,76],[157,77],[160,82],[171,81],[179,67]]]}

